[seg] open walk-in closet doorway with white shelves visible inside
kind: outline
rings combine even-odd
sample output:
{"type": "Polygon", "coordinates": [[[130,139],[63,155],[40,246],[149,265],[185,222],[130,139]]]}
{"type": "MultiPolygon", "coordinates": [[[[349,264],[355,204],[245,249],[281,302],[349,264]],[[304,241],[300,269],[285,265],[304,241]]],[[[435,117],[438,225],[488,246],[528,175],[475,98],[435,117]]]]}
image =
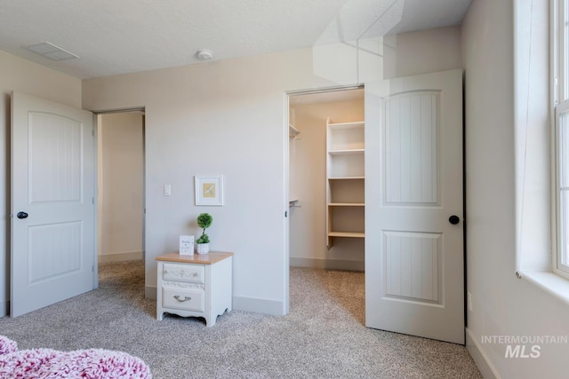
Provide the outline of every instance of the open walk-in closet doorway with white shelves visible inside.
{"type": "Polygon", "coordinates": [[[314,269],[365,323],[364,88],[289,93],[288,104],[291,287],[314,269]]]}

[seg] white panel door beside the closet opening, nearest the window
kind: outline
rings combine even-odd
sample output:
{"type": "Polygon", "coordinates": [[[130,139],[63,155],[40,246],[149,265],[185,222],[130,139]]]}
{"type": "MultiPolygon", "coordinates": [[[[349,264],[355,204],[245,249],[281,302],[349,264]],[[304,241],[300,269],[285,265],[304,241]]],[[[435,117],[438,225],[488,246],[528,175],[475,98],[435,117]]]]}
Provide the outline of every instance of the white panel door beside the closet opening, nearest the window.
{"type": "Polygon", "coordinates": [[[365,84],[365,324],[464,343],[461,70],[365,84]]]}

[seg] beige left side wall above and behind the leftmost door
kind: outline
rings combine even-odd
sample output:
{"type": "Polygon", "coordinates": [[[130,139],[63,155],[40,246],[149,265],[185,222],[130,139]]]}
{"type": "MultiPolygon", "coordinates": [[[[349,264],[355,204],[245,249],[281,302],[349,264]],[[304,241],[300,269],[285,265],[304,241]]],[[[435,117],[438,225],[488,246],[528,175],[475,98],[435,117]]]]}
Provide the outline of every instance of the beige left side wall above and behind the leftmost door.
{"type": "Polygon", "coordinates": [[[0,316],[10,298],[10,94],[27,93],[43,99],[81,107],[81,81],[0,51],[0,316]]]}

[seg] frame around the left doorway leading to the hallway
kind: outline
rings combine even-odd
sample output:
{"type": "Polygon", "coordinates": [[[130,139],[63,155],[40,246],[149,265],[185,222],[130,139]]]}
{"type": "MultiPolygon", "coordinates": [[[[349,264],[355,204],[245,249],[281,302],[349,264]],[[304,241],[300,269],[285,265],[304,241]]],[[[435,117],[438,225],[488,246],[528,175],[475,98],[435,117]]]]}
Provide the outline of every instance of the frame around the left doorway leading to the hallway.
{"type": "MultiPolygon", "coordinates": [[[[95,259],[94,259],[94,271],[97,273],[94,275],[94,288],[99,288],[99,119],[100,115],[103,114],[120,114],[120,113],[130,113],[130,112],[142,112],[144,118],[146,118],[146,107],[132,107],[132,108],[117,108],[109,109],[104,111],[91,111],[93,114],[93,125],[95,133],[95,259]]],[[[144,265],[146,267],[146,122],[142,122],[142,259],[144,260],[144,265]]],[[[146,279],[146,270],[145,270],[146,279]]]]}

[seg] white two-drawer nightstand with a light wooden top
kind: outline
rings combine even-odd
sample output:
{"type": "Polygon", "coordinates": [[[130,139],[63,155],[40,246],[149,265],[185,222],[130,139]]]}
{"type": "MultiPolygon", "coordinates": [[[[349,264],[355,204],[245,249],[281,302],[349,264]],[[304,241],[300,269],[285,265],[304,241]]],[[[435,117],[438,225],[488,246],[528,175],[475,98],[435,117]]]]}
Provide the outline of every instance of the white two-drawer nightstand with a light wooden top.
{"type": "Polygon", "coordinates": [[[215,325],[217,316],[231,311],[233,253],[210,252],[156,257],[156,319],[164,313],[203,317],[205,326],[215,325]]]}

